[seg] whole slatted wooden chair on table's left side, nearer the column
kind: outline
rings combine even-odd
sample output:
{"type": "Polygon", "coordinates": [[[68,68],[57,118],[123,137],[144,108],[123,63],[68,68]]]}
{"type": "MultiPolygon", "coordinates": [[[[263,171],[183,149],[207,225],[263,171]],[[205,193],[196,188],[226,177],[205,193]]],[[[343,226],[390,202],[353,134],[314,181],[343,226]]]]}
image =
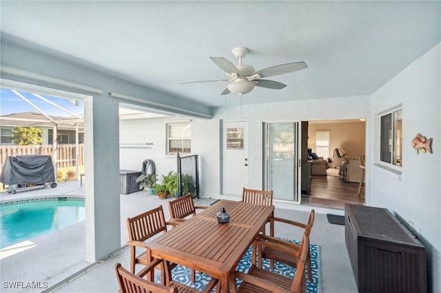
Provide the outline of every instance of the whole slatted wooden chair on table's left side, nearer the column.
{"type": "Polygon", "coordinates": [[[163,206],[148,210],[136,217],[127,218],[127,230],[129,232],[127,245],[130,246],[130,272],[135,273],[136,264],[148,265],[152,261],[150,250],[145,241],[158,233],[167,232],[167,225],[173,226],[175,224],[174,222],[165,221],[163,206]],[[138,254],[136,248],[142,248],[143,252],[138,254]]]}

